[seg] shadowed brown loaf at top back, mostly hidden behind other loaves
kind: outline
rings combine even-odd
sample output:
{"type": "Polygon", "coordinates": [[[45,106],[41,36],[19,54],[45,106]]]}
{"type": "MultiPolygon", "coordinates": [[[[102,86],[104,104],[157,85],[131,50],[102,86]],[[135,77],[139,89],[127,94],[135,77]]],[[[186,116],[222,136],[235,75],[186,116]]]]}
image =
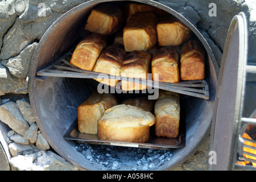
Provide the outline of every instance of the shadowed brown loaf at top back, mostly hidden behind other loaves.
{"type": "Polygon", "coordinates": [[[154,6],[146,5],[143,3],[127,3],[125,5],[125,18],[126,22],[129,22],[131,15],[135,13],[154,13],[156,16],[164,16],[167,15],[167,11],[161,10],[154,6]]]}

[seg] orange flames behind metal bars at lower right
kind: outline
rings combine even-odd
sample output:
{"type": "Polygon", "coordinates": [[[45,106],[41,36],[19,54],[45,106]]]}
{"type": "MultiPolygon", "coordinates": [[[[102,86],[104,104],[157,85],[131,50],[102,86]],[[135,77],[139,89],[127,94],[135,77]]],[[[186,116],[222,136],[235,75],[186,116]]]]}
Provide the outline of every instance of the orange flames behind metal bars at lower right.
{"type": "MultiPolygon", "coordinates": [[[[256,116],[255,116],[256,118],[256,116]]],[[[246,133],[243,133],[242,135],[243,138],[247,138],[247,139],[250,139],[251,140],[251,137],[246,134],[246,133]]],[[[251,146],[251,147],[256,147],[256,143],[252,143],[252,142],[247,142],[245,141],[244,144],[248,145],[248,146],[251,146]]],[[[247,147],[243,147],[243,151],[245,152],[250,152],[251,154],[255,154],[256,155],[256,150],[253,150],[251,148],[247,148],[247,147]]],[[[247,158],[247,159],[254,159],[256,160],[255,157],[253,156],[250,156],[250,155],[246,155],[246,154],[243,154],[243,157],[247,158]]],[[[243,166],[245,166],[246,164],[250,164],[250,162],[246,161],[245,162],[237,162],[238,164],[242,164],[243,166]]],[[[256,163],[251,163],[253,165],[253,167],[256,167],[256,163]]]]}

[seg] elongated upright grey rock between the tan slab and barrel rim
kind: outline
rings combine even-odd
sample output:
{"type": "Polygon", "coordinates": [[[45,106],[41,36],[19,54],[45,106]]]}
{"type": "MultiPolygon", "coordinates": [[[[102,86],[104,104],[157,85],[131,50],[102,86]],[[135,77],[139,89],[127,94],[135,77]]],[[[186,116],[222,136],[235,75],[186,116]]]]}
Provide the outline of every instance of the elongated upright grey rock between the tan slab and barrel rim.
{"type": "Polygon", "coordinates": [[[31,106],[29,101],[26,98],[22,98],[20,100],[16,101],[17,106],[19,107],[20,112],[23,115],[23,118],[30,123],[30,125],[32,123],[35,122],[35,117],[34,114],[32,112],[31,106]]]}

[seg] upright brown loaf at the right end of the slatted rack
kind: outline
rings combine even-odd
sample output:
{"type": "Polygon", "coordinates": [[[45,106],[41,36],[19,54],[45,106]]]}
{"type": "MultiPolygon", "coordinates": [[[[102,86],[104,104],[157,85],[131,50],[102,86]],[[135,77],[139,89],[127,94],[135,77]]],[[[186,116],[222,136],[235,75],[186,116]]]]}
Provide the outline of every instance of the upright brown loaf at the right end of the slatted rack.
{"type": "Polygon", "coordinates": [[[204,79],[204,49],[197,40],[189,40],[181,48],[180,78],[181,80],[204,79]]]}

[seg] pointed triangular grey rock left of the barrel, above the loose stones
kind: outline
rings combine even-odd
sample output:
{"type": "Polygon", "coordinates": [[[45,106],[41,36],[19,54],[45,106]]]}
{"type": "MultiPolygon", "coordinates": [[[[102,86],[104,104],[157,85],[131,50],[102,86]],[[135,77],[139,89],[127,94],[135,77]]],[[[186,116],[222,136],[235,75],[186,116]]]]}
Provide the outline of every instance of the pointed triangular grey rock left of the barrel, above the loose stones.
{"type": "Polygon", "coordinates": [[[30,69],[30,61],[38,43],[32,43],[20,52],[16,57],[10,58],[6,67],[11,75],[18,78],[26,78],[30,69]]]}

